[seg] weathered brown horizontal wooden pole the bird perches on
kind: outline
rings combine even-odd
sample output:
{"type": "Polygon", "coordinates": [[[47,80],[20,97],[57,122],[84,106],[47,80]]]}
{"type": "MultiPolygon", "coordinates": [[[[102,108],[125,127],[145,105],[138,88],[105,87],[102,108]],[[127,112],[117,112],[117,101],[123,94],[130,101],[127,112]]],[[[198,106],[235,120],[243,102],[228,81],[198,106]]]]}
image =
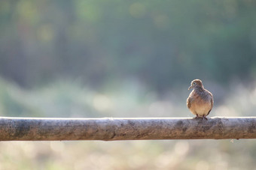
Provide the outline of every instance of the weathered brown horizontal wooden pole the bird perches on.
{"type": "Polygon", "coordinates": [[[0,141],[256,139],[248,118],[0,118],[0,141]]]}

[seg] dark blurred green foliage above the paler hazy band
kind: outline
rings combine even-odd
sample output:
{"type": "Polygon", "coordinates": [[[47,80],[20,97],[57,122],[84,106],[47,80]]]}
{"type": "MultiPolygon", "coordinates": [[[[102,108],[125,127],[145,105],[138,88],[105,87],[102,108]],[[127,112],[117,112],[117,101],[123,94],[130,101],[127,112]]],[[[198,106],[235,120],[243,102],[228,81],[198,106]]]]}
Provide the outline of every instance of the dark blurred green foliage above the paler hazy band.
{"type": "Polygon", "coordinates": [[[255,8],[250,0],[2,0],[0,72],[26,87],[135,78],[157,91],[194,78],[254,79],[255,8]]]}

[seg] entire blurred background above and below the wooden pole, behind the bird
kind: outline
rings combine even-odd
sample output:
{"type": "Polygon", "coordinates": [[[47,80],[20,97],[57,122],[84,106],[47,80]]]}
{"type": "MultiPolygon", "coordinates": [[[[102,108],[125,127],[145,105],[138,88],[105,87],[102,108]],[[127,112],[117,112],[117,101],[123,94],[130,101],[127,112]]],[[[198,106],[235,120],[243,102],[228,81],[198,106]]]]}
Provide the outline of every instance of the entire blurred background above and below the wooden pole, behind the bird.
{"type": "MultiPolygon", "coordinates": [[[[254,116],[256,1],[0,2],[0,115],[254,116]]],[[[254,169],[254,140],[1,142],[0,169],[254,169]]]]}

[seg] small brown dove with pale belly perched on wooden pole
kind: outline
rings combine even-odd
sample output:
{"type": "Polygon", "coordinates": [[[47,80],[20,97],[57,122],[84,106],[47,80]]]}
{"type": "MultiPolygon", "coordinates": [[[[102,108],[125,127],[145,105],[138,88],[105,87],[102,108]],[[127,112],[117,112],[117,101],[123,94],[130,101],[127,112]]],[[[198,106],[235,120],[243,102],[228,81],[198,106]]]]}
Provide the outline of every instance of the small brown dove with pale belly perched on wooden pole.
{"type": "Polygon", "coordinates": [[[195,118],[207,120],[206,116],[211,112],[214,103],[212,93],[203,87],[200,79],[194,79],[188,90],[190,88],[193,88],[193,91],[187,97],[187,108],[194,115],[197,115],[195,118]]]}

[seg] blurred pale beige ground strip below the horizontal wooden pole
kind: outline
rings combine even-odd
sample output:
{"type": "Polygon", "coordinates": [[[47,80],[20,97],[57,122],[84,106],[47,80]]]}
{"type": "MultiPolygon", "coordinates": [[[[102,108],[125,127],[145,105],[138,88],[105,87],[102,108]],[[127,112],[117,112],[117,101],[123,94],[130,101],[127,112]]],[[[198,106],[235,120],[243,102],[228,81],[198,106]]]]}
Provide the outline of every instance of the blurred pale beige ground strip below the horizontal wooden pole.
{"type": "Polygon", "coordinates": [[[247,140],[2,142],[1,169],[254,169],[247,140]],[[245,147],[246,146],[246,147],[245,147]]]}

